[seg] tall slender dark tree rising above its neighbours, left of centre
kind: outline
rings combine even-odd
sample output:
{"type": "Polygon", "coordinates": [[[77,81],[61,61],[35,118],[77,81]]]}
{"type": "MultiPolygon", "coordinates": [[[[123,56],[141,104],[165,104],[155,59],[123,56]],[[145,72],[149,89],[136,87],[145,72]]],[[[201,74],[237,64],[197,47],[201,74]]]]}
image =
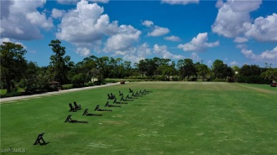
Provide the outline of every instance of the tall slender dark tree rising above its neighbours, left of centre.
{"type": "Polygon", "coordinates": [[[67,72],[70,70],[70,56],[65,56],[65,47],[60,45],[60,40],[51,40],[49,46],[54,52],[50,56],[50,69],[53,70],[55,81],[60,84],[67,82],[67,72]]]}

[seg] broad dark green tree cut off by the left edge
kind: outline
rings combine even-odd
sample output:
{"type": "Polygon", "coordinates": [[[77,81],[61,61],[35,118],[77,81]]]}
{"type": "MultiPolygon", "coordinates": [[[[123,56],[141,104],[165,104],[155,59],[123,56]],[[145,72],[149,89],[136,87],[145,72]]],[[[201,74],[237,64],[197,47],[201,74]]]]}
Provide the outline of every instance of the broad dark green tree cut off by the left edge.
{"type": "Polygon", "coordinates": [[[12,42],[3,42],[1,45],[1,84],[5,84],[7,93],[16,88],[16,83],[21,80],[26,70],[27,61],[24,54],[26,50],[22,45],[12,42]]]}

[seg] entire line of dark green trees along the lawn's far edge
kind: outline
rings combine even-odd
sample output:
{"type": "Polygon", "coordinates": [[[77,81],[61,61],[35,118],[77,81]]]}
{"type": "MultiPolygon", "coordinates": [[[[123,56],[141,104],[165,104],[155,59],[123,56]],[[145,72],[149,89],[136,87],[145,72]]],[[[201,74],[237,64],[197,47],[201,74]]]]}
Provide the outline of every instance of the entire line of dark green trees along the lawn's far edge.
{"type": "Polygon", "coordinates": [[[254,84],[269,84],[277,79],[277,69],[271,64],[261,68],[244,64],[243,67],[228,67],[216,59],[212,67],[192,59],[180,59],[177,64],[171,59],[141,59],[134,63],[114,57],[90,56],[76,64],[66,55],[60,40],[49,44],[53,54],[47,67],[38,67],[36,62],[28,62],[22,45],[3,42],[1,45],[1,88],[8,93],[24,88],[26,92],[50,91],[49,81],[72,84],[73,87],[102,84],[105,79],[145,79],[155,81],[237,81],[254,84]]]}

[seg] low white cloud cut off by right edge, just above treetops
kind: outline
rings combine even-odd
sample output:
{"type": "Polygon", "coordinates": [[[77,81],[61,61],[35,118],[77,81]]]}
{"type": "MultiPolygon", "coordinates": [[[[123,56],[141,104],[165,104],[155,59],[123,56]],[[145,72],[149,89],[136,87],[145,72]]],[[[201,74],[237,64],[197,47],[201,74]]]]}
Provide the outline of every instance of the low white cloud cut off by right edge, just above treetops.
{"type": "Polygon", "coordinates": [[[247,59],[254,59],[254,60],[269,60],[269,61],[277,61],[277,46],[273,48],[273,50],[266,50],[261,52],[261,54],[254,54],[252,50],[242,49],[241,53],[244,54],[244,57],[247,59]]]}

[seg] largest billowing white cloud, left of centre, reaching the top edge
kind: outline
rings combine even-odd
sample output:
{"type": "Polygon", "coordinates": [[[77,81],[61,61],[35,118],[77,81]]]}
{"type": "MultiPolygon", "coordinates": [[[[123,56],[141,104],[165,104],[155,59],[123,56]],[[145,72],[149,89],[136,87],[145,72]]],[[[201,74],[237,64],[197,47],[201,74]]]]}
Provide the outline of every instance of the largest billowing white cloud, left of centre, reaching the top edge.
{"type": "Polygon", "coordinates": [[[57,38],[72,43],[94,42],[101,40],[103,35],[116,34],[117,21],[109,23],[109,16],[102,15],[104,8],[97,4],[80,1],[77,8],[65,13],[57,38]]]}

